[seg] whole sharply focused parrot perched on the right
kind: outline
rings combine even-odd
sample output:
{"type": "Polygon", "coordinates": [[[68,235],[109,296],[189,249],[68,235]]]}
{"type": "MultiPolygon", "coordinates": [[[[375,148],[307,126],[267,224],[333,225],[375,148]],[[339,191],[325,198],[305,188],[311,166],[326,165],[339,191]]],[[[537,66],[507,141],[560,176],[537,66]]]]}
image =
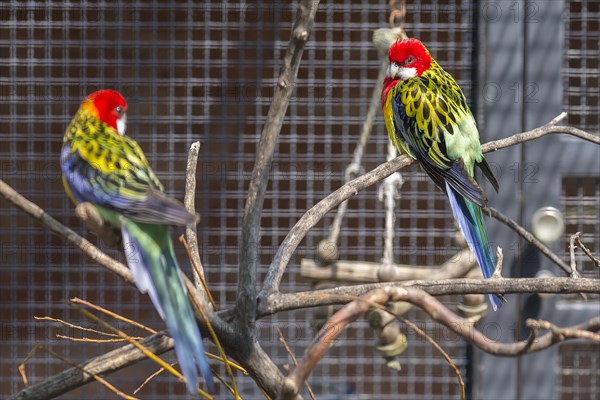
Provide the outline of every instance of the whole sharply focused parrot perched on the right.
{"type": "MultiPolygon", "coordinates": [[[[481,211],[487,198],[474,179],[475,166],[496,191],[498,181],[481,152],[465,95],[417,39],[398,40],[388,57],[381,108],[390,139],[448,196],[483,276],[490,278],[496,261],[481,211]]],[[[490,295],[490,301],[494,310],[501,305],[496,295],[490,295]]]]}

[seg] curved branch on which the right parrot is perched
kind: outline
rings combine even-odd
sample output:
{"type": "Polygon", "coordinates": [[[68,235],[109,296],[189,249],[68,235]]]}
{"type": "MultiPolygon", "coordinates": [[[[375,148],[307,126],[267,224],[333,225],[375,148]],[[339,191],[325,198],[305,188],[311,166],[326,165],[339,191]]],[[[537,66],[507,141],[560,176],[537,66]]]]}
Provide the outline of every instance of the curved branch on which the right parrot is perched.
{"type": "MultiPolygon", "coordinates": [[[[570,126],[557,126],[556,123],[564,118],[566,114],[561,114],[550,123],[535,128],[528,132],[517,133],[505,139],[492,141],[482,145],[484,153],[500,150],[506,147],[514,146],[519,143],[525,143],[530,140],[538,139],[549,134],[563,133],[579,137],[592,143],[600,144],[600,137],[591,135],[580,129],[570,126]]],[[[323,200],[314,205],[298,220],[296,225],[290,230],[284,241],[277,249],[273,257],[267,276],[264,281],[263,289],[259,294],[259,300],[262,301],[272,293],[279,291],[279,283],[285,272],[285,269],[296,248],[304,239],[310,229],[312,229],[331,209],[342,201],[356,195],[361,190],[385,179],[392,173],[399,171],[413,163],[413,160],[407,156],[400,156],[394,160],[379,165],[374,170],[359,176],[358,178],[346,183],[335,192],[329,194],[323,200]]],[[[259,306],[260,307],[260,306],[259,306]]]]}

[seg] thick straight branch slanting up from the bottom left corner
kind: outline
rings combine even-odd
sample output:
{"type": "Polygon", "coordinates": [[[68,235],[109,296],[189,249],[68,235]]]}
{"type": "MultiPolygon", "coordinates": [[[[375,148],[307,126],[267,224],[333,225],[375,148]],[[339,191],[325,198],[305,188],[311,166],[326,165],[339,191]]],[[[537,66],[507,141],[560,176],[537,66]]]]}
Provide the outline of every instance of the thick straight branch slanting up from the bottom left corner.
{"type": "MultiPolygon", "coordinates": [[[[148,336],[139,343],[154,354],[159,355],[171,350],[174,341],[166,336],[164,332],[159,332],[148,336]]],[[[90,374],[106,376],[144,359],[146,359],[144,353],[132,344],[128,344],[101,356],[94,357],[79,366],[90,374]]],[[[42,382],[28,386],[9,399],[50,399],[94,381],[95,379],[91,375],[84,374],[81,369],[73,367],[51,376],[42,382]]]]}

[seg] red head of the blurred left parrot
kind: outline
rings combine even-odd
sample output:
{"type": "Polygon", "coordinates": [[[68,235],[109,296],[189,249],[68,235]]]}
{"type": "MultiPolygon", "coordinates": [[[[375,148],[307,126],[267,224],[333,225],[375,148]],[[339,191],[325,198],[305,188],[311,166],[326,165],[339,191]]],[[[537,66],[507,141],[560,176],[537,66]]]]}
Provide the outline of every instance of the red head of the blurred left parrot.
{"type": "Polygon", "coordinates": [[[90,94],[81,108],[124,135],[127,130],[127,102],[116,90],[105,89],[90,94]]]}

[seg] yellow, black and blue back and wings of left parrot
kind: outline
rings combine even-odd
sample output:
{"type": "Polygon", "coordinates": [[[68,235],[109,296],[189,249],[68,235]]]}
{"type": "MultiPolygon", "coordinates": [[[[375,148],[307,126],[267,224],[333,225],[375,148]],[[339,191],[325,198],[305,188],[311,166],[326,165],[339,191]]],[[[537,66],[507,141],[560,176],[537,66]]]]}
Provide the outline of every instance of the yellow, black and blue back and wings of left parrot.
{"type": "Polygon", "coordinates": [[[197,221],[163,193],[139,145],[85,109],[77,112],[65,132],[61,168],[65,190],[75,203],[87,201],[138,222],[197,221]]]}

